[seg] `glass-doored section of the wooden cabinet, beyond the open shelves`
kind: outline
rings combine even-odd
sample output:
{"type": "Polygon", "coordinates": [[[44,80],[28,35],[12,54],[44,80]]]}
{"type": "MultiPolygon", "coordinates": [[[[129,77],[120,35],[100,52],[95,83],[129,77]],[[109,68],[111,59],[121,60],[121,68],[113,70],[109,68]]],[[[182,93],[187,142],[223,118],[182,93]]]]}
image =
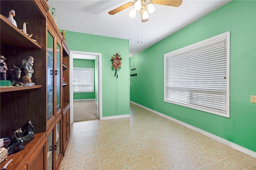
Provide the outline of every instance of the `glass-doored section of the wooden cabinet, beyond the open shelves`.
{"type": "Polygon", "coordinates": [[[47,169],[58,169],[70,130],[69,49],[47,14],[47,169]],[[64,120],[65,117],[65,120],[64,120]],[[65,123],[63,123],[65,121],[65,123]],[[68,127],[67,127],[68,126],[68,127]],[[67,132],[68,131],[68,132],[67,132]],[[52,147],[52,149],[50,149],[52,147]],[[49,155],[50,153],[50,155],[49,155]]]}

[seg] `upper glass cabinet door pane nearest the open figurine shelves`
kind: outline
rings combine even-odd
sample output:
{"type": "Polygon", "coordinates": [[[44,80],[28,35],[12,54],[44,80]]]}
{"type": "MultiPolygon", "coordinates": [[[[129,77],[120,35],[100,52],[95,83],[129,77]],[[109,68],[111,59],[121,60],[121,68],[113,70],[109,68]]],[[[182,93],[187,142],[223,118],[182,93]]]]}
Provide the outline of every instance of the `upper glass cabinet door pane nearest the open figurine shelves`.
{"type": "Polygon", "coordinates": [[[53,85],[53,78],[54,78],[54,39],[50,32],[47,33],[47,120],[49,120],[54,115],[54,108],[53,108],[53,96],[54,96],[54,85],[53,85]]]}

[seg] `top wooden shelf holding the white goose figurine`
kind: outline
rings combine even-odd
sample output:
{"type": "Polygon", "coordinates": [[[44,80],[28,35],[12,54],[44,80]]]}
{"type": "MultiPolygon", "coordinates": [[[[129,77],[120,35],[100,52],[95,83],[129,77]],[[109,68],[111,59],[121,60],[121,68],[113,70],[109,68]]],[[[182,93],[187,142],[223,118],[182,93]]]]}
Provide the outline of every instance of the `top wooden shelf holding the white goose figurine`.
{"type": "Polygon", "coordinates": [[[20,29],[0,15],[1,44],[20,49],[42,49],[41,45],[25,35],[20,29]]]}

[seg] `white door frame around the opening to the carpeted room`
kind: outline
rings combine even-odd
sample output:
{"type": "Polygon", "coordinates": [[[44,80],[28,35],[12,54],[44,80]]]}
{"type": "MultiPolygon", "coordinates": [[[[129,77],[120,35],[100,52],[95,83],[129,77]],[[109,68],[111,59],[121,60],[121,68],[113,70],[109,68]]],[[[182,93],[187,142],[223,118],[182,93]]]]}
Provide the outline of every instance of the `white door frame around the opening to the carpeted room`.
{"type": "Polygon", "coordinates": [[[98,114],[99,119],[102,119],[102,54],[101,53],[91,53],[84,51],[70,51],[70,123],[73,123],[74,119],[74,104],[73,104],[73,54],[82,55],[95,55],[98,56],[98,114]]]}

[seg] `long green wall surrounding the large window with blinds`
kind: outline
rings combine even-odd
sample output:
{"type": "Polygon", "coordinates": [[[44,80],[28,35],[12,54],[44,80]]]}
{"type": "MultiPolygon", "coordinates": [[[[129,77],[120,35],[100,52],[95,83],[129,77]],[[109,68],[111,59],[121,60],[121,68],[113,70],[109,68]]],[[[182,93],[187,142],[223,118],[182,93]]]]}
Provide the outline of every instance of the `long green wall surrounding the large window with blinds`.
{"type": "Polygon", "coordinates": [[[130,58],[130,100],[256,151],[256,1],[231,1],[130,58]],[[230,118],[164,102],[164,54],[231,31],[230,118]]]}

